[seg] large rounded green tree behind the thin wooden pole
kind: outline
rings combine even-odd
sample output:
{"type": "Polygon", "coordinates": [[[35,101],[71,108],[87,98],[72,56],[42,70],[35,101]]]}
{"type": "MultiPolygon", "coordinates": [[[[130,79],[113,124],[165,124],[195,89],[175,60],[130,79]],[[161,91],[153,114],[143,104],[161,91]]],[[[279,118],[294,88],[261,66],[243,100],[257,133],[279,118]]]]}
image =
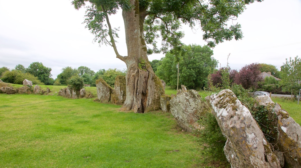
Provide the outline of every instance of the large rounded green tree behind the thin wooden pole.
{"type": "Polygon", "coordinates": [[[185,45],[179,57],[175,57],[171,50],[162,59],[156,74],[168,86],[177,86],[177,63],[179,61],[180,84],[189,89],[203,89],[207,85],[207,76],[216,66],[217,61],[212,58],[213,51],[208,46],[185,45]]]}

